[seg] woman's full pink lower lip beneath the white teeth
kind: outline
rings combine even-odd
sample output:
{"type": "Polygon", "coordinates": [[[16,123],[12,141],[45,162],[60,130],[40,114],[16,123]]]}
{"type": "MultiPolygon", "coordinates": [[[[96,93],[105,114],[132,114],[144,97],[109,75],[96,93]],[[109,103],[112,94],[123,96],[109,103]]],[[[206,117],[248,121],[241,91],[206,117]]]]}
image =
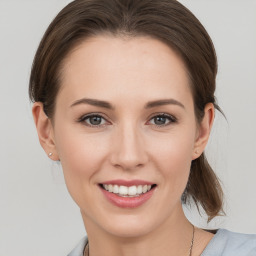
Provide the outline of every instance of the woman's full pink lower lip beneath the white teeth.
{"type": "Polygon", "coordinates": [[[106,198],[114,205],[121,208],[136,208],[147,202],[153,195],[155,187],[145,194],[136,197],[121,197],[100,187],[106,198]]]}

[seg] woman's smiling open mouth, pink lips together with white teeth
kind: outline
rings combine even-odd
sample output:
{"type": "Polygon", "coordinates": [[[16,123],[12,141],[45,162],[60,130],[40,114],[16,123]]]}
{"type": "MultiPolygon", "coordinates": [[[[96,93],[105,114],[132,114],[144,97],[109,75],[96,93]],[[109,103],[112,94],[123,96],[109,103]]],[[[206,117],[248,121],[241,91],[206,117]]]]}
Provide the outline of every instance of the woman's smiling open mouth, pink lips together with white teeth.
{"type": "Polygon", "coordinates": [[[112,180],[99,184],[106,199],[122,208],[139,207],[153,195],[156,184],[142,180],[112,180]]]}

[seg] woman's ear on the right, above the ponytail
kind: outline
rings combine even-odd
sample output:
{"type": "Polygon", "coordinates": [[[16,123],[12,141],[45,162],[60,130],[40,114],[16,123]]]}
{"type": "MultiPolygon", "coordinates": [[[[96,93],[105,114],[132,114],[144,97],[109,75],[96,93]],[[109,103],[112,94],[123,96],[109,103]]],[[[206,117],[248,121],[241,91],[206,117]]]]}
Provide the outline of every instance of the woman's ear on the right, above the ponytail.
{"type": "Polygon", "coordinates": [[[206,104],[204,108],[204,117],[200,124],[198,124],[198,131],[196,135],[196,140],[194,144],[194,152],[192,155],[192,160],[198,158],[204,151],[208,139],[210,137],[210,132],[212,129],[214,121],[215,108],[212,103],[206,104]]]}

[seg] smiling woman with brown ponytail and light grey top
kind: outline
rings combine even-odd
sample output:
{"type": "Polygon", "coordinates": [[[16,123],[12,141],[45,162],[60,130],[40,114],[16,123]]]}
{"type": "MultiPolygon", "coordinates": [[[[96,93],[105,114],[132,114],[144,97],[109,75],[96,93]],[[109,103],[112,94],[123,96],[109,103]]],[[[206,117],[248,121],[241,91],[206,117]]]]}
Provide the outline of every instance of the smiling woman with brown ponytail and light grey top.
{"type": "Polygon", "coordinates": [[[47,29],[30,78],[42,147],[60,161],[88,237],[76,255],[256,255],[256,237],[185,217],[223,214],[204,149],[217,60],[174,0],[77,0],[47,29]]]}

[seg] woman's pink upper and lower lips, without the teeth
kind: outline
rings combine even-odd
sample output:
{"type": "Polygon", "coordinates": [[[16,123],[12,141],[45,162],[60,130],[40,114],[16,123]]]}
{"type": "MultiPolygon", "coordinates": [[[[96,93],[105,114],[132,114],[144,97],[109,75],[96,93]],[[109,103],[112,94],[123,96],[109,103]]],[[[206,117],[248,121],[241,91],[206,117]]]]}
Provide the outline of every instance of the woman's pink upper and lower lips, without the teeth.
{"type": "MultiPolygon", "coordinates": [[[[138,185],[153,185],[154,183],[142,181],[142,180],[131,180],[131,181],[125,181],[125,180],[111,180],[106,181],[103,184],[115,184],[118,186],[138,186],[138,185]]],[[[136,208],[141,205],[143,205],[145,202],[147,202],[153,195],[155,191],[155,187],[153,187],[150,191],[146,192],[145,194],[141,194],[139,196],[135,197],[121,197],[114,193],[111,193],[109,191],[106,191],[101,186],[101,191],[103,192],[106,199],[114,204],[115,206],[121,207],[121,208],[136,208]]]]}

